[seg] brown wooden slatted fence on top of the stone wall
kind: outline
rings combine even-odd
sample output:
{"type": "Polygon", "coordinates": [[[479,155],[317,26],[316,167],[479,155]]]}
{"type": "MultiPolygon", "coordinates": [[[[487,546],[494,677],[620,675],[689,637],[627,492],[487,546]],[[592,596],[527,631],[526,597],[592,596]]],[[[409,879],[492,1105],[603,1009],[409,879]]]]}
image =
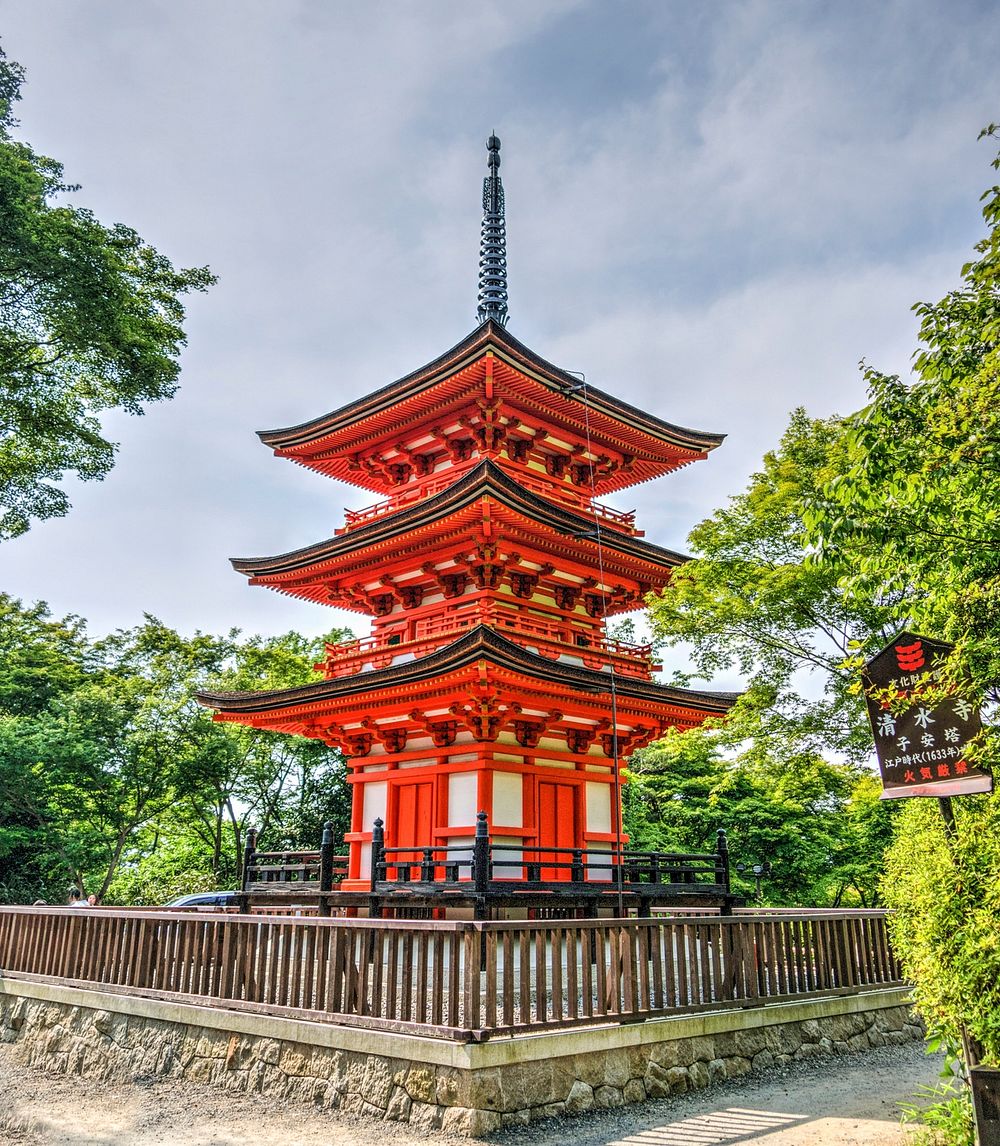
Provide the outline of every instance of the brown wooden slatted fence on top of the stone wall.
{"type": "Polygon", "coordinates": [[[0,906],[0,975],[466,1042],[901,982],[881,911],[464,923],[0,906]]]}

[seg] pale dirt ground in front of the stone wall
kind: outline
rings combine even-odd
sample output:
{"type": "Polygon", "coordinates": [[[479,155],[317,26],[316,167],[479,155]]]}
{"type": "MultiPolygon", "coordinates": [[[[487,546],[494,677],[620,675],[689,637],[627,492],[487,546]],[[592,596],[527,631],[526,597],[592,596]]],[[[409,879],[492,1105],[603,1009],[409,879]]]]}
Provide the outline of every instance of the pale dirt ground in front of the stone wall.
{"type": "MultiPolygon", "coordinates": [[[[682,1099],[551,1118],[502,1146],[899,1146],[899,1100],[940,1069],[916,1044],[806,1060],[682,1099]]],[[[434,1136],[440,1139],[442,1136],[434,1136]]],[[[196,1083],[104,1085],[19,1066],[0,1047],[0,1143],[10,1146],[426,1146],[399,1124],[229,1094],[196,1083]]]]}

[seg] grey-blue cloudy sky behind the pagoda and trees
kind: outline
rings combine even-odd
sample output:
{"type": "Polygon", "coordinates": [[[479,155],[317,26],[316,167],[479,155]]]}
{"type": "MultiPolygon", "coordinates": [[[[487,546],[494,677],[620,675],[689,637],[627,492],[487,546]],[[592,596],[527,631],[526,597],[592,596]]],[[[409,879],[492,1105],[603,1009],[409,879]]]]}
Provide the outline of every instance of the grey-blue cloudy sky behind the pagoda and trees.
{"type": "Polygon", "coordinates": [[[111,476],[0,547],[0,589],[94,633],[346,619],[229,567],[372,501],[254,431],[474,327],[490,129],[512,333],[730,435],[615,499],[679,549],[793,407],[860,406],[861,358],[907,368],[910,307],[956,282],[994,175],[987,0],[0,0],[0,34],[27,69],[21,136],[77,203],[220,276],[190,303],[179,397],[109,419],[111,476]]]}

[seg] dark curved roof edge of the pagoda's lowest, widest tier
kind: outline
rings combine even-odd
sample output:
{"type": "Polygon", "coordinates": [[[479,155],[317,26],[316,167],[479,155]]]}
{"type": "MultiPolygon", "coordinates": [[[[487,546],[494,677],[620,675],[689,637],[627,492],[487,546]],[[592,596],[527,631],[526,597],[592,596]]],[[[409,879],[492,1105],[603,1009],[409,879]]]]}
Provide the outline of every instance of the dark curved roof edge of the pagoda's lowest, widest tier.
{"type": "MultiPolygon", "coordinates": [[[[249,716],[275,713],[290,707],[309,706],[326,700],[346,699],[387,686],[417,686],[434,681],[447,673],[475,666],[486,660],[498,668],[543,681],[548,688],[565,686],[570,691],[611,693],[611,674],[564,661],[553,661],[529,652],[502,636],[495,629],[480,625],[417,660],[388,668],[371,669],[353,676],[334,677],[292,689],[261,692],[197,692],[196,699],[208,708],[223,714],[249,716]]],[[[678,689],[636,677],[615,675],[617,696],[636,701],[671,705],[704,715],[723,715],[739,699],[738,692],[707,692],[678,689]]]]}

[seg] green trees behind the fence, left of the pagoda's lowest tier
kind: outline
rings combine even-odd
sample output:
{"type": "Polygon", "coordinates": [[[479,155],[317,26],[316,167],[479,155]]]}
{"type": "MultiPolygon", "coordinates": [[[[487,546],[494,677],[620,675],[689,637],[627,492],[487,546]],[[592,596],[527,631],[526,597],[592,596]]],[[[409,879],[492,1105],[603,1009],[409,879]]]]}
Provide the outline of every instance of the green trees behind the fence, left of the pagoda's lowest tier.
{"type": "Polygon", "coordinates": [[[318,842],[326,819],[346,831],[339,753],[194,700],[308,683],[322,639],[188,638],[147,617],[92,642],[2,596],[0,621],[0,897],[61,902],[73,884],[163,902],[233,887],[250,824],[275,846],[318,842]]]}

